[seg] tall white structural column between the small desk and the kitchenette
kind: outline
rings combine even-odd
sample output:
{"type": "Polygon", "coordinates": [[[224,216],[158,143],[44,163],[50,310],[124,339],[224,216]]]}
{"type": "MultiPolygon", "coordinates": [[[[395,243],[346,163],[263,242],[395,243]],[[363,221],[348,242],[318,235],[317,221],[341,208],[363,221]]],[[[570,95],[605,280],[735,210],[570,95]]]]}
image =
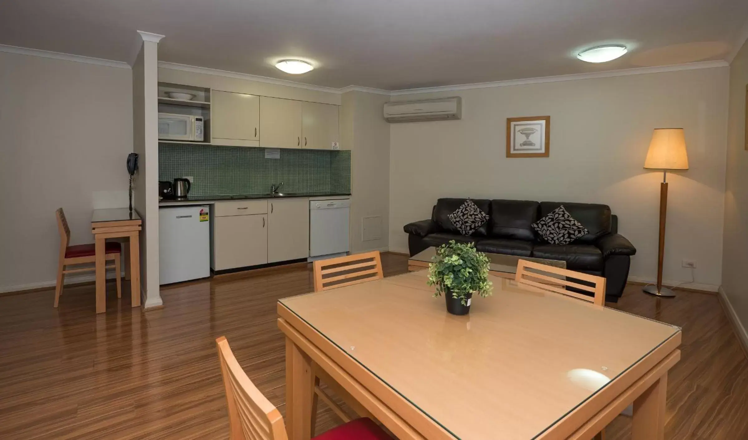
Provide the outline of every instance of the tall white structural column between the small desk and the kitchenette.
{"type": "Polygon", "coordinates": [[[138,31],[132,61],[132,151],[138,153],[134,179],[135,210],[143,217],[141,284],[144,309],[162,306],[159,292],[159,40],[138,31]]]}

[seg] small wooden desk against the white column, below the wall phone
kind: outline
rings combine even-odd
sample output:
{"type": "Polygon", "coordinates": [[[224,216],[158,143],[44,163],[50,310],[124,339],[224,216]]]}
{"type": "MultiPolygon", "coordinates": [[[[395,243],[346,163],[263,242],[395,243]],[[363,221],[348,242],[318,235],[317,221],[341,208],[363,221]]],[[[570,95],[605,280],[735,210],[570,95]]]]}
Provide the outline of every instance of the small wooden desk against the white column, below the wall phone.
{"type": "MultiPolygon", "coordinates": [[[[143,220],[138,211],[129,208],[94,209],[91,233],[96,246],[96,313],[106,312],[105,241],[129,238],[129,258],[125,262],[125,279],[130,280],[132,307],[141,305],[140,231],[143,220]]],[[[121,270],[117,267],[116,270],[121,270]]]]}

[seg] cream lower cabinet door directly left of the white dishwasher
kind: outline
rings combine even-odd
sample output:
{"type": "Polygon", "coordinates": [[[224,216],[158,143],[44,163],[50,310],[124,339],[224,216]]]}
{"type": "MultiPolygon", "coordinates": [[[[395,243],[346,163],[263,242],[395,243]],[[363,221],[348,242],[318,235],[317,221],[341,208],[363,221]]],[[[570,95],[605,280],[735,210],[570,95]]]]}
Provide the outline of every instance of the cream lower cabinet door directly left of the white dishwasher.
{"type": "Polygon", "coordinates": [[[268,201],[268,262],[309,256],[309,199],[268,201]]]}

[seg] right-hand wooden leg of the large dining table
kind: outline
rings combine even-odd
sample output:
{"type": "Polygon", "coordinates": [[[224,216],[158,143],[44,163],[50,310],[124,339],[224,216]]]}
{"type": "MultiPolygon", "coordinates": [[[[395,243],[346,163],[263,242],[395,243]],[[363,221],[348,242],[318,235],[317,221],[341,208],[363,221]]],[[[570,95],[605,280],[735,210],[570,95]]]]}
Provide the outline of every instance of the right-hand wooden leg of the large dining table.
{"type": "Polygon", "coordinates": [[[665,402],[667,373],[634,400],[632,440],[663,440],[665,438],[665,402]]]}

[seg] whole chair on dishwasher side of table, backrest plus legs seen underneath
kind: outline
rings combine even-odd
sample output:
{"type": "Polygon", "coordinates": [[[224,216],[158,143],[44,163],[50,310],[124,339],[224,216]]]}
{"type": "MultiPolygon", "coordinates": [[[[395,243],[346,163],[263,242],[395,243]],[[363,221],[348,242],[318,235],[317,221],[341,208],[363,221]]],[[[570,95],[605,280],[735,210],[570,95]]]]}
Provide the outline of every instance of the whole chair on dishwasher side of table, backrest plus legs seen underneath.
{"type": "MultiPolygon", "coordinates": [[[[384,274],[381,270],[381,256],[378,250],[314,261],[314,291],[316,292],[382,278],[384,278],[384,274]]],[[[314,397],[312,404],[312,429],[316,421],[316,409],[319,399],[327,403],[330,409],[343,422],[351,420],[346,412],[343,411],[343,408],[335,403],[332,397],[325,394],[325,391],[322,391],[322,388],[319,387],[320,381],[324,382],[327,388],[330,388],[334,394],[343,399],[358,415],[373,418],[373,415],[361,403],[358,403],[358,400],[355,400],[348,391],[338,385],[327,372],[322,370],[322,368],[316,367],[316,365],[313,369],[314,397]]]]}

